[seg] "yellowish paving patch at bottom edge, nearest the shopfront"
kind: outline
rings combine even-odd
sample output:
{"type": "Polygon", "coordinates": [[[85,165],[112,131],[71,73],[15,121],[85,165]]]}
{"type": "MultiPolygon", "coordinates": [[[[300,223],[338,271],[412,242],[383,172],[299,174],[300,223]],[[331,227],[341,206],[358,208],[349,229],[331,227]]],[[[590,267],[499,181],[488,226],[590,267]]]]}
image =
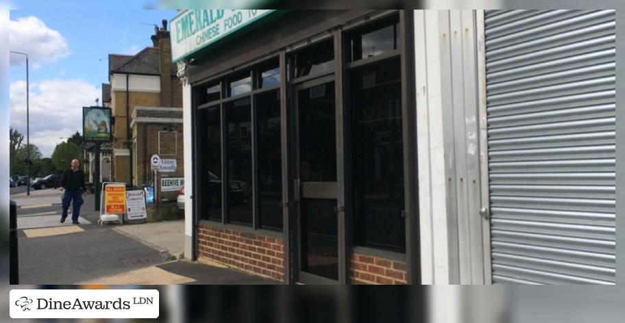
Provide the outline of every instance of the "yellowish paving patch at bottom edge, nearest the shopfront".
{"type": "Polygon", "coordinates": [[[191,283],[193,281],[195,279],[151,266],[100,279],[84,281],[77,283],[77,285],[174,285],[191,283]]]}

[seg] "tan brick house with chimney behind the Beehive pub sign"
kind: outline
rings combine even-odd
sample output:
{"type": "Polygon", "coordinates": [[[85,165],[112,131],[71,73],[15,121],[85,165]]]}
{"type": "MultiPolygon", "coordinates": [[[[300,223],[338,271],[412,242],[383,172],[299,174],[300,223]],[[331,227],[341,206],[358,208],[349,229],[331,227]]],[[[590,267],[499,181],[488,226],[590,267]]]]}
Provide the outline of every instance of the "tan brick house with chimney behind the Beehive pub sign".
{"type": "Polygon", "coordinates": [[[171,63],[167,21],[155,27],[153,46],[136,55],[108,55],[110,84],[103,84],[103,105],[113,117],[112,181],[146,185],[149,157],[177,159],[182,175],[182,85],[171,63]]]}

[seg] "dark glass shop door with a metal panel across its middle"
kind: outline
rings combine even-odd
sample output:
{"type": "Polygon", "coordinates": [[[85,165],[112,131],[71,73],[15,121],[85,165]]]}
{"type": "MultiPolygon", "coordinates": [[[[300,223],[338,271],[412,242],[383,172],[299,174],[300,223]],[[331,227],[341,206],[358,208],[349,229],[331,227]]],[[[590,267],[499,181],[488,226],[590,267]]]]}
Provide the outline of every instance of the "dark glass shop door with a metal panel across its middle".
{"type": "Polygon", "coordinates": [[[339,231],[334,77],[295,88],[297,281],[338,283],[339,231]]]}

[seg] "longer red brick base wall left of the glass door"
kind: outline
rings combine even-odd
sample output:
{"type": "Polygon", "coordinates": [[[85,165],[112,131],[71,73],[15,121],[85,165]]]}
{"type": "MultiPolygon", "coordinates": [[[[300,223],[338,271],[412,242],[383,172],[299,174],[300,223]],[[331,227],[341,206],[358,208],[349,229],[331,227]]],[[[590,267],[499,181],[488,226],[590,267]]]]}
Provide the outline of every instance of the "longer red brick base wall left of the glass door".
{"type": "Polygon", "coordinates": [[[199,257],[284,281],[284,243],[278,238],[198,224],[197,239],[199,257]]]}

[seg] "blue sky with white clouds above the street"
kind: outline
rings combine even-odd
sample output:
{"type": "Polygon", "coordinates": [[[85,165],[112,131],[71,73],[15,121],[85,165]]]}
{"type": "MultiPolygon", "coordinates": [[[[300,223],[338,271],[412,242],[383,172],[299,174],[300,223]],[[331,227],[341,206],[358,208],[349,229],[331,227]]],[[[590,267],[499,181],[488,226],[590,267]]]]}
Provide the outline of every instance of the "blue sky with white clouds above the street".
{"type": "MultiPolygon", "coordinates": [[[[101,105],[108,54],[132,55],[151,46],[154,24],[176,11],[31,7],[10,11],[10,50],[29,55],[30,142],[50,157],[56,144],[82,133],[82,107],[95,105],[96,98],[101,105]]],[[[9,79],[10,126],[26,135],[23,55],[10,55],[9,79]]]]}

